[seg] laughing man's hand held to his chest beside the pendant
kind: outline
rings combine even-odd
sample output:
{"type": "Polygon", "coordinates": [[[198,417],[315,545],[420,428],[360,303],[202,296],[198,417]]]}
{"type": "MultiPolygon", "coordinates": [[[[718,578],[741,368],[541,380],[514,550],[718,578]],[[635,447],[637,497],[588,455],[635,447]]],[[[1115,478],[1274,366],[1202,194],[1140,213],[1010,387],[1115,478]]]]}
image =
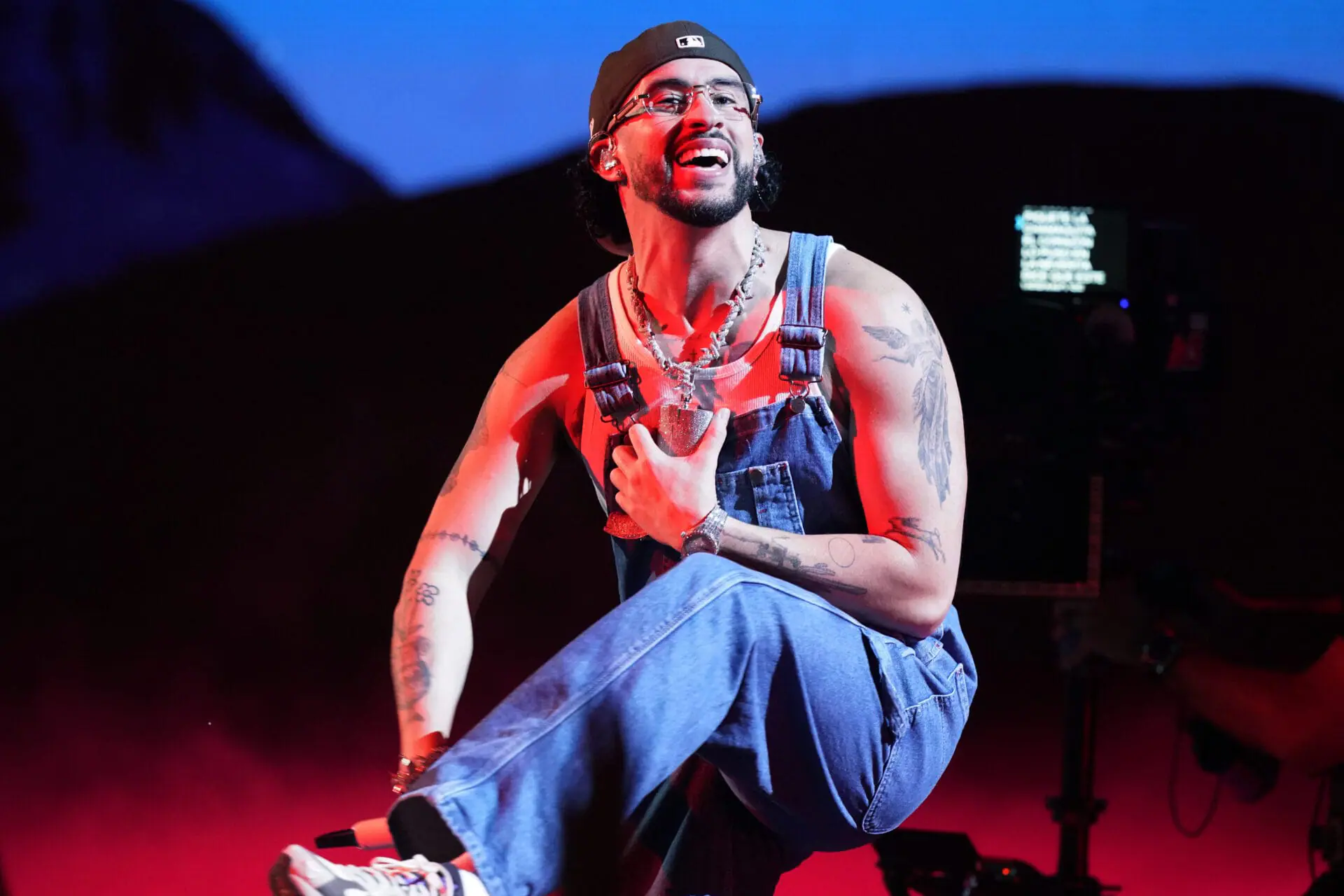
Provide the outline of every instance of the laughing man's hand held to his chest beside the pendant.
{"type": "Polygon", "coordinates": [[[616,502],[650,536],[681,548],[681,533],[703,520],[719,501],[714,472],[728,435],[727,408],[719,408],[710,429],[685,457],[660,449],[642,423],[630,427],[630,445],[612,451],[616,502]]]}

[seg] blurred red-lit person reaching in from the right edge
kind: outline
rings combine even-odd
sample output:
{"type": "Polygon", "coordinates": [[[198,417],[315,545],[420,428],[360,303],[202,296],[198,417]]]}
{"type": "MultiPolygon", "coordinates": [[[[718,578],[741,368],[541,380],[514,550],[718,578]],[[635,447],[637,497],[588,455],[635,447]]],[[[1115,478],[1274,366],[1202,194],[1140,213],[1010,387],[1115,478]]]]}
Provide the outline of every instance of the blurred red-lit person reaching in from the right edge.
{"type": "MultiPolygon", "coordinates": [[[[1340,598],[1251,599],[1181,564],[1056,604],[1062,664],[1089,657],[1150,670],[1181,701],[1204,771],[1243,802],[1279,766],[1321,778],[1309,896],[1344,893],[1344,607],[1340,598]],[[1325,806],[1324,818],[1321,807],[1325,806]]],[[[1206,819],[1207,823],[1207,819],[1206,819]]]]}

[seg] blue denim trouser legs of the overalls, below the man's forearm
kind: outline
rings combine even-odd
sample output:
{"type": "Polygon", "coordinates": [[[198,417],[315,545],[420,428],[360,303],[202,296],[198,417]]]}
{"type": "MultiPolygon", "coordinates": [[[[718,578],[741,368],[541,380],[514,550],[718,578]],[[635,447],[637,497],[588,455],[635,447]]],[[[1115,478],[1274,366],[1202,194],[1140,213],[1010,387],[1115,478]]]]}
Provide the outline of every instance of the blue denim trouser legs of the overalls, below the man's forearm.
{"type": "MultiPolygon", "coordinates": [[[[421,819],[441,818],[492,896],[542,896],[559,885],[594,801],[640,823],[650,794],[691,760],[716,770],[685,797],[691,813],[755,827],[755,852],[771,857],[715,857],[706,844],[681,864],[773,875],[765,889],[724,883],[714,896],[771,892],[808,853],[859,846],[914,811],[952,758],[973,692],[973,668],[938,637],[907,643],[794,584],[696,555],[524,681],[425,772],[392,826],[414,842],[431,833],[415,830],[421,819]],[[403,813],[411,801],[421,811],[403,813]]],[[[677,883],[694,869],[660,858],[657,892],[707,892],[677,883]]]]}

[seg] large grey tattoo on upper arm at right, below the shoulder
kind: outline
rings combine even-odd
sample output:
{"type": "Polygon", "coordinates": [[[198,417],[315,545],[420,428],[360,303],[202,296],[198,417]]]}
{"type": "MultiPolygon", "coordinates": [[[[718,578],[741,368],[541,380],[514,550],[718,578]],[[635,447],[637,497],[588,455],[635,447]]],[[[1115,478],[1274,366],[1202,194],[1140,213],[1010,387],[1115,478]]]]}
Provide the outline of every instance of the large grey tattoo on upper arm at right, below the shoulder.
{"type": "Polygon", "coordinates": [[[896,361],[917,367],[915,418],[919,420],[919,467],[925,478],[938,490],[938,504],[948,498],[952,469],[952,438],[948,435],[948,377],[942,368],[942,336],[934,326],[929,309],[923,321],[915,321],[914,336],[895,326],[864,326],[863,332],[890,348],[879,361],[896,361]]]}

